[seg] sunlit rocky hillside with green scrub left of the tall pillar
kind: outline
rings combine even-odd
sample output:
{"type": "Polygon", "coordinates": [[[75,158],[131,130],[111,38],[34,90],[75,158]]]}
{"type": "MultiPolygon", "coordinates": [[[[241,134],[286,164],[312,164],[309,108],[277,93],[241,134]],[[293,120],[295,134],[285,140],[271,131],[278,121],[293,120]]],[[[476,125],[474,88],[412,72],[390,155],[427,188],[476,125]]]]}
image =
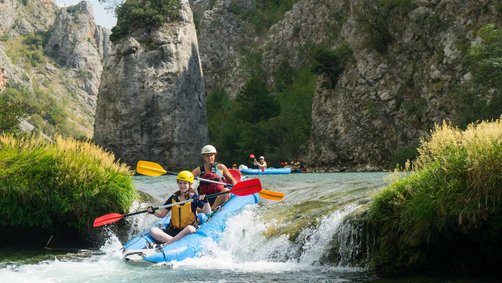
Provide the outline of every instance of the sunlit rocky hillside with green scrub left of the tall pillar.
{"type": "Polygon", "coordinates": [[[110,31],[95,24],[90,2],[1,0],[0,11],[2,98],[23,103],[30,131],[92,137],[110,31]]]}

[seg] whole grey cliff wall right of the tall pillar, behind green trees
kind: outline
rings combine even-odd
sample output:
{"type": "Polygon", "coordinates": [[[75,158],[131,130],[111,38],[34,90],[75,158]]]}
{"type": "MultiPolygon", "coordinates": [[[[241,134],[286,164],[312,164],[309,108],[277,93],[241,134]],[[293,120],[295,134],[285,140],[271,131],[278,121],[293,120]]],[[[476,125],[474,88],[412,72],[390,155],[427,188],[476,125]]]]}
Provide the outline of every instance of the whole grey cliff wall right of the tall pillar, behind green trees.
{"type": "Polygon", "coordinates": [[[243,43],[261,52],[270,84],[281,62],[299,69],[314,48],[350,50],[336,79],[317,78],[303,156],[315,171],[381,170],[413,155],[434,123],[462,115],[456,95],[472,89],[467,48],[480,27],[500,24],[493,0],[298,0],[264,35],[246,33],[249,19],[236,11],[258,2],[194,1],[208,92],[239,91],[246,71],[235,50],[243,43]]]}

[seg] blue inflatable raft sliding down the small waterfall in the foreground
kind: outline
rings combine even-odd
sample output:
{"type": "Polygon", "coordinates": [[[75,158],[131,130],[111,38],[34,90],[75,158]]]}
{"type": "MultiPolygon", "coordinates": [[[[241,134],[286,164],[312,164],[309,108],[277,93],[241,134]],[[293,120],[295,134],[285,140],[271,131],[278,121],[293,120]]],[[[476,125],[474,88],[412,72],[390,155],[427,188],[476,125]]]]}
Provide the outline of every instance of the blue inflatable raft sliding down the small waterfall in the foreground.
{"type": "MultiPolygon", "coordinates": [[[[150,230],[148,228],[124,244],[123,258],[125,261],[132,262],[160,263],[199,257],[207,252],[205,250],[205,246],[207,246],[205,241],[208,238],[218,242],[227,226],[227,220],[239,213],[247,205],[257,203],[258,200],[258,194],[247,196],[232,195],[232,198],[213,217],[200,225],[197,232],[187,235],[181,240],[167,246],[155,247],[156,242],[148,233],[150,230]]],[[[170,215],[169,213],[154,225],[158,225],[161,229],[164,229],[171,221],[170,215]]]]}

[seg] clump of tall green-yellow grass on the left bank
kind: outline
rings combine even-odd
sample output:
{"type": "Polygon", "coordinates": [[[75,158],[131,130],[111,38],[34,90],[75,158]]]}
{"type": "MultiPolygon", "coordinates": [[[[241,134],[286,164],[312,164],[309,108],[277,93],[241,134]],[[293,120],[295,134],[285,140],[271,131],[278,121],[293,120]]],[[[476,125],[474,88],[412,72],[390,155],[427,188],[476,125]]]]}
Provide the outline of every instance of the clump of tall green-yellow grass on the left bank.
{"type": "Polygon", "coordinates": [[[136,196],[129,168],[91,142],[0,136],[0,226],[85,231],[136,196]]]}

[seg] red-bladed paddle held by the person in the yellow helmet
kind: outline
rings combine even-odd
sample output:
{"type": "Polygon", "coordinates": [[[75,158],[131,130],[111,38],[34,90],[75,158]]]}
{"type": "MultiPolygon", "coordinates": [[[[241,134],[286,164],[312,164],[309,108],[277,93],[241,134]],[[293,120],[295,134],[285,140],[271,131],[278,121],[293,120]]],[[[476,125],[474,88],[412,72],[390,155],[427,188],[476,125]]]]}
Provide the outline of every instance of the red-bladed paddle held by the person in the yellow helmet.
{"type": "MultiPolygon", "coordinates": [[[[211,181],[211,180],[207,180],[207,181],[211,181]]],[[[215,181],[213,181],[213,182],[215,182],[215,181]]],[[[216,196],[219,196],[222,194],[228,194],[228,193],[232,193],[236,196],[247,196],[247,195],[252,195],[252,194],[258,193],[260,191],[261,191],[260,179],[250,179],[250,180],[246,180],[246,181],[235,184],[228,191],[207,195],[206,198],[212,198],[212,197],[216,197],[216,196]]],[[[154,207],[153,210],[157,210],[159,208],[167,208],[167,207],[171,207],[171,206],[175,206],[175,205],[180,205],[180,204],[184,204],[184,203],[191,202],[191,201],[193,201],[193,199],[175,202],[175,203],[171,203],[171,204],[166,204],[163,206],[154,207]]],[[[106,224],[110,224],[110,223],[119,221],[122,218],[136,215],[136,214],[140,214],[140,213],[145,213],[145,212],[148,212],[148,210],[141,210],[141,211],[136,211],[136,212],[128,213],[128,214],[109,213],[109,214],[106,214],[106,215],[103,215],[103,216],[96,218],[94,220],[94,227],[99,227],[99,226],[103,226],[106,224]]]]}

